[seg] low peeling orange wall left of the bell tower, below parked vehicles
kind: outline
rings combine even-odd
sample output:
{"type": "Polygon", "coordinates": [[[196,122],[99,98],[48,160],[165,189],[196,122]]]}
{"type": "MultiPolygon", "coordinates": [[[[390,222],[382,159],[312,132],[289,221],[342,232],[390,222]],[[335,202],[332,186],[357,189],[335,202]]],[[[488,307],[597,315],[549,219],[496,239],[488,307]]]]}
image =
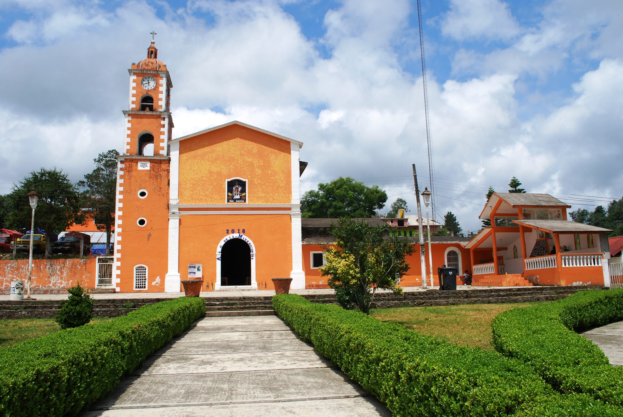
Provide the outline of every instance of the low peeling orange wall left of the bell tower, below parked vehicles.
{"type": "MultiPolygon", "coordinates": [[[[78,281],[86,288],[95,288],[97,258],[33,260],[32,290],[45,293],[67,289],[78,281]]],[[[11,281],[28,279],[28,260],[0,261],[0,292],[8,294],[11,281]]]]}

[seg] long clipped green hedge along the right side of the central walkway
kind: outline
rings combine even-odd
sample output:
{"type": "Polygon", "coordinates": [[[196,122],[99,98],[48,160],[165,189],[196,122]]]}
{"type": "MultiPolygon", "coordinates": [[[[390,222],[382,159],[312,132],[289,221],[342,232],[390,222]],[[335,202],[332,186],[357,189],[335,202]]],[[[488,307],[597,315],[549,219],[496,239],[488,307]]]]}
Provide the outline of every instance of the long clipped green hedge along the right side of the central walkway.
{"type": "Polygon", "coordinates": [[[297,295],[273,306],[298,335],[401,416],[616,416],[587,395],[561,395],[530,367],[297,295]]]}

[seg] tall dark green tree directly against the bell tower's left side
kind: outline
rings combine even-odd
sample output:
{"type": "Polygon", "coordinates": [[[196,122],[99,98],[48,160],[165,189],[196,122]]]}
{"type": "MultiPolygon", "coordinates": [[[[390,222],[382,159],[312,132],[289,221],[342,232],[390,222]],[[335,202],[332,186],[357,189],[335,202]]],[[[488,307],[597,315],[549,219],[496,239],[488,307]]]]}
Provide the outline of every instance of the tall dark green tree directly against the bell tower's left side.
{"type": "Polygon", "coordinates": [[[110,253],[110,233],[115,222],[117,207],[117,156],[119,152],[112,149],[103,152],[93,159],[95,169],[78,181],[82,192],[82,207],[88,208],[84,214],[93,218],[98,230],[106,231],[106,253],[110,253]]]}

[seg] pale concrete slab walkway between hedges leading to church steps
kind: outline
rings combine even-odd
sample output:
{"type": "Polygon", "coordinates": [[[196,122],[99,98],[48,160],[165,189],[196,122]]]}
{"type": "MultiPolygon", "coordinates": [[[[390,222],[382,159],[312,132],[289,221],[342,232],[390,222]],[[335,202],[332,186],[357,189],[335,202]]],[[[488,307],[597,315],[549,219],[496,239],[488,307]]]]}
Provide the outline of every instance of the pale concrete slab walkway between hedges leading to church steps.
{"type": "Polygon", "coordinates": [[[210,317],[148,358],[83,417],[391,413],[276,316],[210,317]],[[154,410],[158,408],[158,410],[154,410]]]}

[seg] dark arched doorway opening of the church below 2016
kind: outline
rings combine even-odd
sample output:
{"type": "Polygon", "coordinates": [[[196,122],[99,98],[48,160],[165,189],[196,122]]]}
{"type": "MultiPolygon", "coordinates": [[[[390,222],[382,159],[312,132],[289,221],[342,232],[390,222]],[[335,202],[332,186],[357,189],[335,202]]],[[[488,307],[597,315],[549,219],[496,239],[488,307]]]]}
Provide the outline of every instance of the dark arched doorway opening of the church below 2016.
{"type": "Polygon", "coordinates": [[[242,239],[230,239],[221,250],[221,285],[251,284],[251,248],[242,239]]]}

